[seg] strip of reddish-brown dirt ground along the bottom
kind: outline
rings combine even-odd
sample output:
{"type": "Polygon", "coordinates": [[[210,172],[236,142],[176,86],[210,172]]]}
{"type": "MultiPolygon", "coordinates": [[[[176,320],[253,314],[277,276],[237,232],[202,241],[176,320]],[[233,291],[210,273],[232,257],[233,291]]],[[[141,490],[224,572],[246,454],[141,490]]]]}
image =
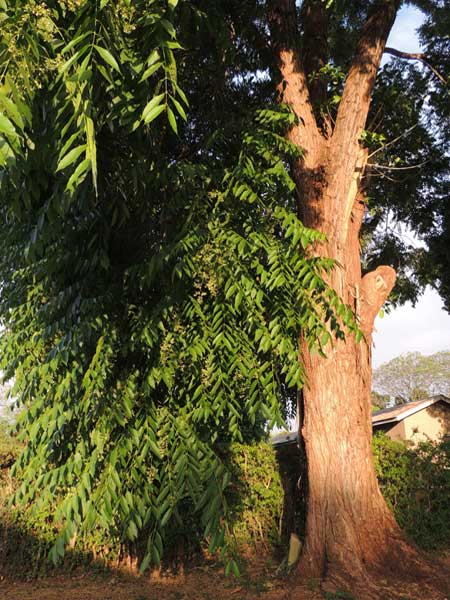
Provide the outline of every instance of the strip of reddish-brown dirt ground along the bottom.
{"type": "MultiPolygon", "coordinates": [[[[429,584],[380,582],[379,600],[450,600],[449,593],[437,592],[429,584]]],[[[237,580],[225,577],[217,568],[200,567],[170,577],[135,577],[123,573],[80,571],[33,581],[23,581],[0,571],[0,600],[366,600],[357,596],[324,591],[317,582],[293,587],[292,579],[277,578],[261,565],[251,575],[237,580]]],[[[370,595],[370,598],[373,598],[370,595]]]]}

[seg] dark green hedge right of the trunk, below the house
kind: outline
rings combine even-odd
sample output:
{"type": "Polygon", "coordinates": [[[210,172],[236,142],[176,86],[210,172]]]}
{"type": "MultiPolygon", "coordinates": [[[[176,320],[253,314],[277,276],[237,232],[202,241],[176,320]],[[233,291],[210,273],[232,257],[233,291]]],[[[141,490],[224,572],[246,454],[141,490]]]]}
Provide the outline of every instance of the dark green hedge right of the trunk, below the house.
{"type": "Polygon", "coordinates": [[[374,437],[381,490],[407,535],[426,549],[450,543],[450,444],[417,447],[374,437]]]}

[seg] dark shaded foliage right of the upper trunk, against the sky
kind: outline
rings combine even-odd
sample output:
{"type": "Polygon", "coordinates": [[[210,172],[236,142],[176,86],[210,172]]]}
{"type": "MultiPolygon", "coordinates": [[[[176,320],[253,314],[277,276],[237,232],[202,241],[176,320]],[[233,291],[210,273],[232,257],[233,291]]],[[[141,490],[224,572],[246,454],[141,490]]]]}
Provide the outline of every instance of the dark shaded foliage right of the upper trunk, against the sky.
{"type": "Polygon", "coordinates": [[[429,66],[391,59],[377,77],[367,125],[372,176],[363,232],[364,268],[380,264],[396,268],[391,302],[415,303],[430,284],[439,289],[448,308],[448,7],[441,0],[412,4],[424,17],[418,34],[429,66]],[[378,147],[373,144],[374,133],[380,141],[384,138],[378,147]],[[425,244],[411,243],[410,231],[425,244]]]}

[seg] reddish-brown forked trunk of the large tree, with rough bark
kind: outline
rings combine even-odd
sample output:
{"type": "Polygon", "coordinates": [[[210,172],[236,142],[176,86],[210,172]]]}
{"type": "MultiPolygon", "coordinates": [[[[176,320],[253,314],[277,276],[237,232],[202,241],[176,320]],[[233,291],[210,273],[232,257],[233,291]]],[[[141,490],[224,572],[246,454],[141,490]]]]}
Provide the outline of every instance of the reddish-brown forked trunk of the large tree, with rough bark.
{"type": "MultiPolygon", "coordinates": [[[[304,36],[310,31],[314,40],[326,39],[323,4],[303,2],[304,36]]],[[[323,127],[313,108],[313,97],[320,98],[323,88],[315,85],[310,93],[306,69],[324,64],[324,46],[319,44],[315,58],[316,42],[304,38],[302,56],[295,0],[268,0],[280,99],[298,117],[288,136],[303,150],[292,165],[299,216],[326,234],[327,241],[314,252],[340,265],[330,283],[353,307],[365,335],[361,343],[350,336],[335,341],[326,358],[302,343],[307,385],[300,421],[308,469],[306,539],[299,564],[303,577],[320,578],[335,569],[362,577],[368,569],[384,567],[402,547],[400,530],[379,491],[371,450],[371,336],[395,271],[383,266],[362,276],[359,245],[367,161],[360,139],[398,7],[398,0],[372,3],[335,123],[323,127]]]]}

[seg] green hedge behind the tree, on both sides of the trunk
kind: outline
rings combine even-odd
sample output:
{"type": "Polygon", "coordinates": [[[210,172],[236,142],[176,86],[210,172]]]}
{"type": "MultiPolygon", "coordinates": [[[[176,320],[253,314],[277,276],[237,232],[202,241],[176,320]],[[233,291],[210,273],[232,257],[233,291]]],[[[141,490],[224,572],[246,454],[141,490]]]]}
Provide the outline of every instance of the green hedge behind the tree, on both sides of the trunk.
{"type": "MultiPolygon", "coordinates": [[[[377,435],[373,448],[382,492],[406,534],[427,550],[450,548],[450,443],[410,447],[377,435]]],[[[18,510],[8,506],[15,482],[5,465],[10,464],[19,449],[16,439],[0,424],[0,567],[16,575],[22,570],[30,577],[47,574],[53,568],[47,555],[58,530],[48,509],[33,506],[30,510],[18,510]]],[[[291,449],[287,467],[292,461],[293,473],[298,460],[291,449]]],[[[286,456],[281,457],[283,477],[276,453],[267,442],[234,444],[228,461],[232,473],[226,492],[228,548],[237,559],[248,551],[279,556],[280,549],[286,548],[287,533],[293,525],[291,520],[289,527],[283,526],[283,521],[292,518],[286,514],[286,507],[297,504],[295,519],[300,521],[304,516],[300,499],[287,498],[296,486],[286,485],[286,456]]],[[[192,507],[186,504],[179,528],[171,532],[167,561],[180,563],[205,555],[203,532],[192,515],[192,507]]],[[[297,522],[297,531],[300,530],[297,522]]],[[[118,534],[105,539],[95,530],[89,536],[74,539],[73,546],[63,568],[93,560],[100,566],[116,566],[121,560],[136,564],[140,556],[139,542],[129,547],[121,543],[118,534]]],[[[245,560],[240,564],[245,564],[245,560]]]]}

